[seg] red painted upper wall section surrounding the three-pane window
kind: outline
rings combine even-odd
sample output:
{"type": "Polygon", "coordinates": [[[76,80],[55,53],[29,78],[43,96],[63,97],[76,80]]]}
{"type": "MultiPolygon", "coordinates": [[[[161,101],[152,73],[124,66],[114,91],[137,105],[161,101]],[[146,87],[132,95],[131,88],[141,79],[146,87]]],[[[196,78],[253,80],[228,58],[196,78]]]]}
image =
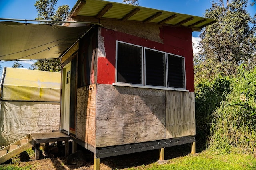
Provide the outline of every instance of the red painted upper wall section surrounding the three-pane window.
{"type": "Polygon", "coordinates": [[[116,41],[118,40],[185,57],[186,89],[190,92],[194,92],[191,32],[190,28],[163,26],[159,35],[164,42],[162,44],[134,35],[101,28],[101,36],[104,37],[106,57],[98,57],[97,83],[112,84],[115,82],[116,41]]]}

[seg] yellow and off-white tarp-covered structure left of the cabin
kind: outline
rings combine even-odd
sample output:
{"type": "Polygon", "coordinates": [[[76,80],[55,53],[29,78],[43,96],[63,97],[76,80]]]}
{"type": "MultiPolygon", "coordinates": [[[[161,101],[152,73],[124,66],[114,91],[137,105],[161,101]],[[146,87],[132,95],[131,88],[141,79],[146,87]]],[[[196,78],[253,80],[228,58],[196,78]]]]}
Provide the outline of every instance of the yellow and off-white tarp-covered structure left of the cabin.
{"type": "Polygon", "coordinates": [[[57,72],[4,68],[0,146],[30,133],[59,130],[60,77],[57,72]]]}

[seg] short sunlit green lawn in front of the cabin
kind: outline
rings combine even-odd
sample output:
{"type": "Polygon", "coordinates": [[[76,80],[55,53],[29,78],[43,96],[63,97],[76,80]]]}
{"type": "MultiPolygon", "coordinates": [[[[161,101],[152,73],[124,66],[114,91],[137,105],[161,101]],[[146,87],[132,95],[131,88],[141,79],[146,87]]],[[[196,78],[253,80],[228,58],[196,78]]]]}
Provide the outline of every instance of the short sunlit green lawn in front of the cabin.
{"type": "Polygon", "coordinates": [[[256,159],[252,154],[218,154],[204,151],[198,156],[183,156],[160,165],[152,163],[129,170],[255,170],[256,159]]]}

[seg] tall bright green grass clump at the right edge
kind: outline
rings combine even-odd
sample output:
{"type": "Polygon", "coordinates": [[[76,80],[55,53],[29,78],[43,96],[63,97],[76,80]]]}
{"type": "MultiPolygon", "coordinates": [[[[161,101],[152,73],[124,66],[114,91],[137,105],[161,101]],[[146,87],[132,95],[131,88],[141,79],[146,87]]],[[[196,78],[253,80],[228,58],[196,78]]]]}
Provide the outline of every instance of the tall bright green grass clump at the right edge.
{"type": "Polygon", "coordinates": [[[212,114],[209,149],[221,152],[253,152],[256,142],[256,68],[245,70],[230,78],[220,106],[212,114]]]}

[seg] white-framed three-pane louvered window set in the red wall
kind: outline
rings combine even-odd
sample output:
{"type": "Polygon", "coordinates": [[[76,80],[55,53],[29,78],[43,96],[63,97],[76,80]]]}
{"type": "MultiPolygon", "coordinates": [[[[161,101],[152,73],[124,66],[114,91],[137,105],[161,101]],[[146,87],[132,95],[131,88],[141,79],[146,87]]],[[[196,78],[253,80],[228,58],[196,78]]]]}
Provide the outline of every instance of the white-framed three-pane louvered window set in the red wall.
{"type": "Polygon", "coordinates": [[[116,49],[116,82],[186,88],[184,57],[120,41],[116,49]]]}

